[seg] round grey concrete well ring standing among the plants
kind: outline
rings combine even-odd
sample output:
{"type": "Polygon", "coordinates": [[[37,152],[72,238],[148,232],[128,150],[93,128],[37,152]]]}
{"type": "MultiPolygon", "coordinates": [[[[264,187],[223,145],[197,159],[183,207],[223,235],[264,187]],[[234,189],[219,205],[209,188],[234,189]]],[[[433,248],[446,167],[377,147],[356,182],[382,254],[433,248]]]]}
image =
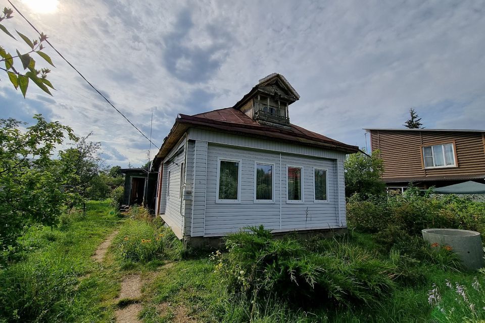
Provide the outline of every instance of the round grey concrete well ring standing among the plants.
{"type": "Polygon", "coordinates": [[[468,270],[483,267],[483,247],[480,233],[458,229],[424,229],[423,239],[430,244],[450,246],[468,270]]]}

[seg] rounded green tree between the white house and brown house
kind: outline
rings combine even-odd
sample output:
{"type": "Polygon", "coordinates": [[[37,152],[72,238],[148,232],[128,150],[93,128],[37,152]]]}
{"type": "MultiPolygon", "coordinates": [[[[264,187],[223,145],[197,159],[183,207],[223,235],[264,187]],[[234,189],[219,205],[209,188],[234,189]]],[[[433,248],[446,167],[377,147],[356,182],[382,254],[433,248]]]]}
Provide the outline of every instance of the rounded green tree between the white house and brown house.
{"type": "Polygon", "coordinates": [[[370,156],[362,152],[347,156],[344,161],[347,196],[358,193],[366,198],[385,191],[385,184],[381,179],[384,164],[379,154],[379,150],[374,150],[370,156]]]}

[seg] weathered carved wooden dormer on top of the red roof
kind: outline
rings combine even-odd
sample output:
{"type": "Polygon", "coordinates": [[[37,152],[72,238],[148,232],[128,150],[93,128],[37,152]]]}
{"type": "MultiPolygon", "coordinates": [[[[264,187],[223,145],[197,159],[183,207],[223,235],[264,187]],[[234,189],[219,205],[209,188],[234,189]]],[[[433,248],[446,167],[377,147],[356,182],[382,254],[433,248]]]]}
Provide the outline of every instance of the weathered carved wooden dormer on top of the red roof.
{"type": "Polygon", "coordinates": [[[288,127],[288,105],[300,95],[281,74],[273,73],[259,83],[233,107],[244,112],[260,124],[288,127]]]}

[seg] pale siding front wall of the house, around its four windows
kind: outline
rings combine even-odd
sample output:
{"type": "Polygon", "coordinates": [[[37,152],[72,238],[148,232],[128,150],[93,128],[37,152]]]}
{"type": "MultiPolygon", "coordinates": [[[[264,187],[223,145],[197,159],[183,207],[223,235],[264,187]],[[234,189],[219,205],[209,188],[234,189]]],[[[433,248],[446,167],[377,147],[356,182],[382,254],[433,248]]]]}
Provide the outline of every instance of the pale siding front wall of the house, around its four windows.
{"type": "Polygon", "coordinates": [[[260,224],[274,231],[336,228],[346,225],[343,153],[338,155],[341,157],[339,159],[282,153],[281,184],[279,152],[197,140],[194,155],[196,173],[191,236],[220,236],[260,224]],[[218,157],[242,160],[240,203],[215,202],[218,157]],[[254,202],[255,161],[272,163],[275,166],[272,204],[254,202]],[[286,203],[286,165],[304,168],[304,203],[286,203]],[[313,167],[328,170],[328,203],[314,202],[313,167]]]}

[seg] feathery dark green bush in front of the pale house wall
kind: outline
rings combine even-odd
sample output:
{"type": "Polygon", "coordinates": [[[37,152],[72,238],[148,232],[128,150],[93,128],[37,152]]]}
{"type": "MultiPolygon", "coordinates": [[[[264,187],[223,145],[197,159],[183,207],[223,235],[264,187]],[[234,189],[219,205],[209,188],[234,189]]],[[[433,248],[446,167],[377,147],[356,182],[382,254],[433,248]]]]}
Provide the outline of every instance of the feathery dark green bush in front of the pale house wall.
{"type": "Polygon", "coordinates": [[[298,240],[273,239],[262,226],[226,237],[229,252],[216,253],[216,271],[229,287],[257,301],[274,295],[308,307],[378,301],[393,290],[393,265],[343,243],[311,252],[298,240]]]}

